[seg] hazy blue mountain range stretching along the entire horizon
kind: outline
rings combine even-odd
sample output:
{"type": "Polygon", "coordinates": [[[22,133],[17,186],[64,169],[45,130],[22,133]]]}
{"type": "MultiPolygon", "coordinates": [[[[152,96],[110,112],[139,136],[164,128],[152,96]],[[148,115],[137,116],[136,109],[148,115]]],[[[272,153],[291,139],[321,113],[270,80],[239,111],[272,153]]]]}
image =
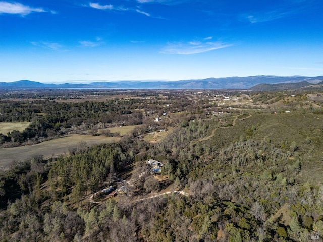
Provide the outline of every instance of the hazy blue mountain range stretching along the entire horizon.
{"type": "Polygon", "coordinates": [[[318,77],[280,77],[280,76],[251,76],[206,78],[200,80],[181,81],[116,81],[92,82],[88,84],[46,84],[29,80],[16,82],[0,82],[0,89],[67,89],[67,88],[114,88],[114,89],[251,89],[285,90],[323,85],[323,76],[318,77]]]}

